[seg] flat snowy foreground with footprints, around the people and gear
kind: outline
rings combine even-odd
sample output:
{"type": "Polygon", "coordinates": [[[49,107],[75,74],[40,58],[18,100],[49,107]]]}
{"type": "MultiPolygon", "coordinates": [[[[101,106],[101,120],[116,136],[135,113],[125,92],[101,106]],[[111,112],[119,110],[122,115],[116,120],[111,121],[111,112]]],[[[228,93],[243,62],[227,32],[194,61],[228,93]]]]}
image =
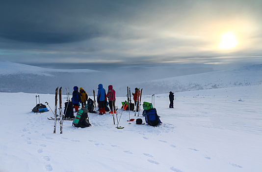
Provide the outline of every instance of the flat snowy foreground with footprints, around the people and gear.
{"type": "MultiPolygon", "coordinates": [[[[261,85],[175,96],[169,109],[168,94],[156,95],[158,127],[129,124],[124,111],[122,130],[109,114],[89,114],[91,127],[64,121],[63,134],[53,134],[51,111],[31,113],[35,94],[1,92],[0,172],[261,172],[261,85]]],[[[54,109],[54,95],[40,100],[54,109]]]]}

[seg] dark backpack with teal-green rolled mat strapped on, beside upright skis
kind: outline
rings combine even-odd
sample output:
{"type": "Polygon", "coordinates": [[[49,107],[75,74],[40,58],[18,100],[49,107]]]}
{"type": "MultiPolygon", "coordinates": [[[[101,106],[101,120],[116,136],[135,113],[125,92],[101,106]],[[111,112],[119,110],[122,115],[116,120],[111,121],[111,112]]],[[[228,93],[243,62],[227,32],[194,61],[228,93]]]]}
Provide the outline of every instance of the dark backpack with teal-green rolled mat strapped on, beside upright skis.
{"type": "Polygon", "coordinates": [[[78,111],[77,116],[75,117],[73,121],[73,125],[76,127],[81,127],[81,128],[91,126],[87,113],[88,113],[88,110],[86,108],[81,108],[78,111]]]}

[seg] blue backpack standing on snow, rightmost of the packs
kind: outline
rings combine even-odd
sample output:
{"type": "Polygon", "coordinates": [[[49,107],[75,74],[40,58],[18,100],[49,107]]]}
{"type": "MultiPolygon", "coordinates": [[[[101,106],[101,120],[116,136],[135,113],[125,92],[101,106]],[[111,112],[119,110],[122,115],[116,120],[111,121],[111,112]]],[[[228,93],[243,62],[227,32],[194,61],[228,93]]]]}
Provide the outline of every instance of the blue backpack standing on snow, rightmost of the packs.
{"type": "Polygon", "coordinates": [[[158,124],[161,124],[161,120],[159,119],[160,116],[157,115],[156,108],[150,109],[150,110],[144,110],[143,116],[145,116],[146,123],[151,126],[157,126],[158,124]]]}

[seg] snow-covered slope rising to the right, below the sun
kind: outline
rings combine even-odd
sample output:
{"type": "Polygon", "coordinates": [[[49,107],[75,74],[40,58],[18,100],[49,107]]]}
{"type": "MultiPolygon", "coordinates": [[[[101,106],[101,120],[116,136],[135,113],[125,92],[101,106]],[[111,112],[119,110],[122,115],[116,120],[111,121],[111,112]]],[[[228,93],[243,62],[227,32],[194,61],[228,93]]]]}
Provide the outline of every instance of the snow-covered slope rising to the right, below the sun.
{"type": "MultiPolygon", "coordinates": [[[[208,72],[195,75],[172,77],[151,82],[131,84],[143,88],[143,95],[180,92],[188,90],[212,89],[233,86],[254,86],[262,84],[262,64],[244,66],[241,68],[208,72]]],[[[126,91],[126,87],[120,87],[119,91],[126,91]]]]}

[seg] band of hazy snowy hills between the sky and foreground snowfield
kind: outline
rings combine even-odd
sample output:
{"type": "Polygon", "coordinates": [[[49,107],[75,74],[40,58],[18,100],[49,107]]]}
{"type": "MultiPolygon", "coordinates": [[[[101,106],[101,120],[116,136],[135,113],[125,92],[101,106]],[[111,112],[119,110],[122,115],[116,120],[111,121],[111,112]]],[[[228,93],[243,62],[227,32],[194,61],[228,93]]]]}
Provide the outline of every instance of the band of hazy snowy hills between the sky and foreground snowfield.
{"type": "Polygon", "coordinates": [[[175,68],[160,66],[122,66],[114,70],[47,69],[14,62],[0,61],[0,92],[53,94],[57,86],[73,91],[83,87],[89,95],[102,83],[107,90],[113,85],[117,96],[125,96],[127,86],[143,88],[143,95],[211,89],[232,86],[253,86],[262,83],[262,64],[213,71],[212,68],[175,68]],[[194,75],[189,75],[195,73],[194,75]],[[183,75],[183,76],[182,76],[183,75]]]}

